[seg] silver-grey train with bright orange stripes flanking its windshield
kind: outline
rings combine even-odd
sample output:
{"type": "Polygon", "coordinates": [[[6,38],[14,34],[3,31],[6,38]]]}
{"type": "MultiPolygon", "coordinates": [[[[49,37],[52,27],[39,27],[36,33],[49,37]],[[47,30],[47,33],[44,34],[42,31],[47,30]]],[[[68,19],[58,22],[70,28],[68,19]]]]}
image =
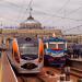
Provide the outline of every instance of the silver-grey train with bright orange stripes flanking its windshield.
{"type": "Polygon", "coordinates": [[[38,73],[44,66],[44,44],[42,39],[17,37],[12,40],[12,51],[8,58],[19,73],[38,73]]]}

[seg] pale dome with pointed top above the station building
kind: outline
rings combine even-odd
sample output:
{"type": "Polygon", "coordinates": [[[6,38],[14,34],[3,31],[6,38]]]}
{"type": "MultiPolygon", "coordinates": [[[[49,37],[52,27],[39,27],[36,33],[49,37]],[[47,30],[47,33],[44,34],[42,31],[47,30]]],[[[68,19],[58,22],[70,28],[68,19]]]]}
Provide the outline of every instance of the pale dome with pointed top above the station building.
{"type": "Polygon", "coordinates": [[[36,21],[32,15],[30,15],[25,22],[22,22],[20,24],[20,28],[42,30],[42,24],[36,21]]]}

